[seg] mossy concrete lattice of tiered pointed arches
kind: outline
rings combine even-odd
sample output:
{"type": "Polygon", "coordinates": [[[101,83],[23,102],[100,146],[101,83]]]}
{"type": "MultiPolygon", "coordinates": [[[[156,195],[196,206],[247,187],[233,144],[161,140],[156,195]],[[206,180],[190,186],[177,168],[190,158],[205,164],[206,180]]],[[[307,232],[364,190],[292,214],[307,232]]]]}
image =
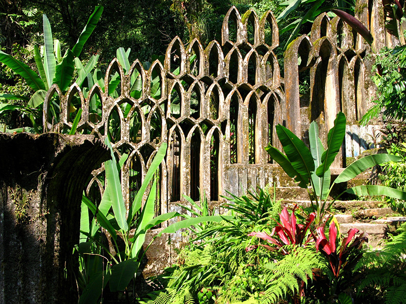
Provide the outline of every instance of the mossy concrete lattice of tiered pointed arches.
{"type": "MultiPolygon", "coordinates": [[[[360,14],[361,21],[368,20],[365,12],[360,14]]],[[[83,112],[78,132],[88,130],[100,139],[109,136],[117,158],[129,155],[121,176],[127,202],[138,191],[160,144],[167,142],[157,213],[175,208],[184,195],[198,200],[199,188],[216,202],[225,191],[241,195],[256,185],[284,185],[287,180],[263,149],[268,143],[281,148],[277,124],[306,139],[310,121],[316,120],[326,139],[336,113],[344,111],[348,136],[343,158],[335,164],[344,166],[346,156],[362,150],[356,138],[368,133],[356,120],[374,92],[368,79],[369,47],[339,17],[322,14],[311,35],[299,37],[286,50],[282,78],[275,55],[278,45],[272,12],[259,19],[254,11],[241,16],[232,7],[224,17],[221,44],[212,41],[204,48],[194,39],[185,46],[175,37],[164,62],[157,60],[148,70],[136,60],[125,72],[114,59],[89,98],[76,84],[65,95],[51,87],[44,104],[44,130],[69,130],[75,114],[70,102],[73,95],[79,96],[81,102],[75,106],[83,112]],[[134,81],[139,82],[137,92],[134,81]],[[60,102],[59,122],[49,119],[52,96],[60,102]]],[[[88,193],[102,191],[100,176],[103,168],[93,172],[88,193]]]]}

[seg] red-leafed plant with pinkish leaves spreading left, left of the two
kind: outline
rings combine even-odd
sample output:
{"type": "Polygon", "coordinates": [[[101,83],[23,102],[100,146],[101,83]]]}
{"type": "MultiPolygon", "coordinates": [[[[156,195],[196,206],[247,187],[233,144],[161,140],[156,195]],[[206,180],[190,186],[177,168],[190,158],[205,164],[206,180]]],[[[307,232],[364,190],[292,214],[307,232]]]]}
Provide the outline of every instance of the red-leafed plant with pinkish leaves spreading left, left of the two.
{"type": "MultiPolygon", "coordinates": [[[[281,222],[276,221],[277,226],[274,228],[270,236],[264,232],[252,232],[248,236],[256,236],[262,240],[267,241],[270,244],[277,245],[282,249],[281,252],[284,255],[288,253],[285,249],[282,248],[284,245],[302,245],[303,242],[306,245],[309,240],[311,240],[311,236],[313,235],[312,233],[308,235],[307,231],[309,230],[311,223],[314,221],[316,213],[310,213],[305,224],[298,224],[295,215],[295,209],[296,206],[293,208],[292,214],[289,216],[288,209],[286,207],[283,208],[282,212],[279,214],[281,222]],[[273,238],[275,234],[279,237],[279,240],[273,238]]],[[[261,246],[269,250],[273,250],[273,248],[268,245],[261,244],[261,246]]],[[[252,245],[247,247],[245,250],[250,251],[257,247],[257,245],[252,245]]]]}

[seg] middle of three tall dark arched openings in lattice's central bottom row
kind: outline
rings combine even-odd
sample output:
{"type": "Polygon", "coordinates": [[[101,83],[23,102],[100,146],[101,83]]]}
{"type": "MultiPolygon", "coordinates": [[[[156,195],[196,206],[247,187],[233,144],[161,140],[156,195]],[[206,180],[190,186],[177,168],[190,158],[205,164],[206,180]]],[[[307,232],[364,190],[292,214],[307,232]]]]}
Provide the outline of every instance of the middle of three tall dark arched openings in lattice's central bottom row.
{"type": "Polygon", "coordinates": [[[197,130],[193,132],[190,141],[190,198],[199,200],[200,188],[200,135],[197,130]]]}

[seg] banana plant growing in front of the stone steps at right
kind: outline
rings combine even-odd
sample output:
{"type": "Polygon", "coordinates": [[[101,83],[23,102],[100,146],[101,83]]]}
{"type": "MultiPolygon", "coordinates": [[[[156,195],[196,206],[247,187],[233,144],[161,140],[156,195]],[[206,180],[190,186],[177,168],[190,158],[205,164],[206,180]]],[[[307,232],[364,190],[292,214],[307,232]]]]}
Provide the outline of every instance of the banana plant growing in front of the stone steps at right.
{"type": "Polygon", "coordinates": [[[320,138],[316,122],[312,122],[309,129],[310,149],[290,130],[281,125],[276,126],[278,138],[285,154],[268,145],[267,153],[286,172],[294,178],[298,185],[306,188],[311,201],[311,209],[316,212],[316,223],[320,224],[326,211],[344,193],[357,196],[384,195],[396,199],[406,200],[406,193],[394,188],[381,185],[361,185],[346,189],[339,196],[329,201],[332,187],[341,182],[355,178],[365,170],[387,162],[399,162],[402,158],[389,154],[375,154],[363,157],[345,168],[331,183],[330,166],[340,151],[346,132],[346,118],[339,112],[334,120],[334,126],[327,135],[327,148],[325,149],[320,138]],[[309,190],[309,186],[312,192],[309,190]]]}

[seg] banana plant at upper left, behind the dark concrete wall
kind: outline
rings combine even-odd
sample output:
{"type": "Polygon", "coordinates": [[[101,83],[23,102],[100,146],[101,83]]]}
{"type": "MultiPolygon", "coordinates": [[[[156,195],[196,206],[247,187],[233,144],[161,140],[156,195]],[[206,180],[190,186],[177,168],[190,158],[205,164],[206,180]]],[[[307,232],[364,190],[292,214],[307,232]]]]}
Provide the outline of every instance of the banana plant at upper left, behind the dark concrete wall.
{"type": "MultiPolygon", "coordinates": [[[[67,49],[65,54],[61,56],[61,48],[58,40],[52,39],[51,24],[47,16],[43,15],[43,28],[44,28],[44,46],[38,48],[34,47],[34,59],[37,65],[39,75],[36,71],[32,70],[27,64],[15,59],[13,56],[0,51],[0,62],[10,67],[15,73],[24,78],[27,85],[35,91],[30,98],[25,96],[17,96],[13,94],[0,94],[0,99],[3,100],[25,100],[28,101],[27,106],[16,105],[12,109],[3,106],[0,109],[0,115],[10,110],[20,110],[21,112],[29,115],[31,123],[35,130],[39,132],[39,125],[37,123],[38,117],[42,118],[39,108],[44,103],[45,95],[52,86],[57,84],[62,92],[73,82],[73,73],[75,70],[74,60],[79,57],[84,44],[93,32],[101,13],[103,13],[103,6],[97,6],[93,13],[90,15],[86,26],[79,36],[78,41],[72,50],[67,49]],[[41,56],[43,53],[43,56],[41,56]],[[36,117],[38,116],[38,117],[36,117]]],[[[1,103],[0,105],[4,105],[1,103]]],[[[54,119],[58,120],[59,105],[57,103],[51,104],[51,113],[54,119]]]]}

